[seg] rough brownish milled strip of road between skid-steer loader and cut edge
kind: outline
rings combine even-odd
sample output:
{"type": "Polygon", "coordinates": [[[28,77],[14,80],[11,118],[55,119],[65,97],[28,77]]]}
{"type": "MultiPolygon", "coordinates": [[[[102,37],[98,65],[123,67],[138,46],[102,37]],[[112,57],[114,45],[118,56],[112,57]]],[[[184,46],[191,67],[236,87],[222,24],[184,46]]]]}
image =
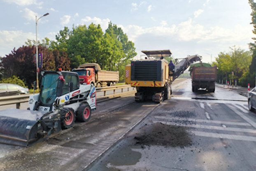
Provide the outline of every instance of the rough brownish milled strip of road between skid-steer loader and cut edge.
{"type": "Polygon", "coordinates": [[[157,105],[135,103],[134,95],[98,103],[90,121],[76,123],[47,141],[28,148],[0,144],[0,170],[83,170],[157,105]]]}

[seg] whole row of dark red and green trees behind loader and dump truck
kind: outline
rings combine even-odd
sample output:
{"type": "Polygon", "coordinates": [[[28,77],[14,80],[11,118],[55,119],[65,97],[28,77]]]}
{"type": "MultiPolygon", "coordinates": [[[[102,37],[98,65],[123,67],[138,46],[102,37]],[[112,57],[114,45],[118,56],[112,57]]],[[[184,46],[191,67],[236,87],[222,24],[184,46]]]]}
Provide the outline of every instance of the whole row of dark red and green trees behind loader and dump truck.
{"type": "MultiPolygon", "coordinates": [[[[45,37],[38,41],[38,53],[43,54],[43,67],[40,71],[56,70],[64,71],[77,68],[84,63],[98,63],[102,70],[119,71],[119,80],[122,82],[125,75],[125,66],[137,55],[134,43],[128,40],[128,36],[116,25],[109,23],[105,34],[100,25],[91,23],[78,25],[72,30],[64,27],[56,35],[55,41],[45,37]]],[[[0,78],[9,78],[17,75],[25,80],[31,88],[36,80],[36,41],[28,39],[26,46],[6,57],[0,57],[0,78]]]]}

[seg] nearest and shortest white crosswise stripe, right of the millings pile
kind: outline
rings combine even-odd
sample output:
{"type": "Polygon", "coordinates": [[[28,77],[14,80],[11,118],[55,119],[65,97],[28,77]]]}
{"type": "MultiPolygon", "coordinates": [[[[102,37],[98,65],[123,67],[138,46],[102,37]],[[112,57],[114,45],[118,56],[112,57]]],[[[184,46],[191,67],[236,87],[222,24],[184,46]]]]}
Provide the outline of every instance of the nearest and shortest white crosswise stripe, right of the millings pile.
{"type": "Polygon", "coordinates": [[[256,137],[249,137],[249,136],[242,136],[242,135],[228,135],[228,134],[218,134],[218,133],[200,132],[200,131],[191,131],[191,133],[201,137],[235,139],[235,140],[242,140],[242,141],[256,141],[256,137]]]}

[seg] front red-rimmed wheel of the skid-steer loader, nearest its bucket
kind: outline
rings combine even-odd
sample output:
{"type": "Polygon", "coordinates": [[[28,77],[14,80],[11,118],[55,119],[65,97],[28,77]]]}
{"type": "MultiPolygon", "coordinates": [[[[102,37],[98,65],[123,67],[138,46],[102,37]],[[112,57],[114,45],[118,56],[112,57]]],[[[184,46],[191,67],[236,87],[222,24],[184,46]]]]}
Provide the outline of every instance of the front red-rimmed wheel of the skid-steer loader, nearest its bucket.
{"type": "Polygon", "coordinates": [[[61,111],[61,128],[68,129],[74,125],[75,115],[74,109],[72,108],[64,108],[61,111]]]}

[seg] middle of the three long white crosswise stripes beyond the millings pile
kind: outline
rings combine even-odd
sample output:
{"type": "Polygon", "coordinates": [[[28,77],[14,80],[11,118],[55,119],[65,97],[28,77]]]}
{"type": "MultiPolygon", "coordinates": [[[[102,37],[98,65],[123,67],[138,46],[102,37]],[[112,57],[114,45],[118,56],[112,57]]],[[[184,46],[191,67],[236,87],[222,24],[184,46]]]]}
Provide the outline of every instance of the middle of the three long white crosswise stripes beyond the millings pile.
{"type": "Polygon", "coordinates": [[[209,130],[223,130],[223,131],[234,131],[234,132],[249,132],[256,134],[255,129],[246,129],[246,128],[224,128],[222,126],[211,126],[211,125],[189,125],[175,122],[165,122],[165,121],[153,121],[154,123],[160,122],[165,125],[176,125],[176,126],[184,126],[184,127],[192,127],[192,128],[201,128],[201,129],[209,129],[209,130]]]}

